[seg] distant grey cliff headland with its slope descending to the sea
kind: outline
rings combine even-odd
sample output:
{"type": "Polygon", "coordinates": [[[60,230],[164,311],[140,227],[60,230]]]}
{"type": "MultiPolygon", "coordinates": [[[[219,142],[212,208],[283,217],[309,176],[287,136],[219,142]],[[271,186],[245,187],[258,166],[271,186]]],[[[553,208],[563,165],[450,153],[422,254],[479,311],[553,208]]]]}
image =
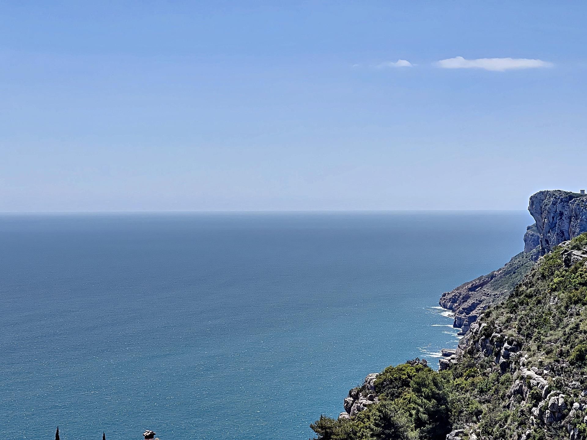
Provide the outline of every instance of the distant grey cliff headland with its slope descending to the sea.
{"type": "Polygon", "coordinates": [[[524,235],[524,252],[504,267],[445,292],[439,304],[454,312],[460,334],[470,328],[483,310],[511,292],[539,256],[562,242],[587,232],[587,196],[561,190],[539,191],[530,197],[528,211],[536,221],[524,235]]]}

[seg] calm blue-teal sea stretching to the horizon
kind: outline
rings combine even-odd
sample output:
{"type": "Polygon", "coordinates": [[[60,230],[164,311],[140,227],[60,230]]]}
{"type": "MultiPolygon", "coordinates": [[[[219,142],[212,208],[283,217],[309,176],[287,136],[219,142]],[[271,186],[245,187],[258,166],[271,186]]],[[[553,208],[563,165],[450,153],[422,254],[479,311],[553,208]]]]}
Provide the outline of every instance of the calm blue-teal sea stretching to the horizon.
{"type": "Polygon", "coordinates": [[[4,438],[307,439],[367,373],[454,347],[445,290],[524,212],[0,216],[4,438]]]}

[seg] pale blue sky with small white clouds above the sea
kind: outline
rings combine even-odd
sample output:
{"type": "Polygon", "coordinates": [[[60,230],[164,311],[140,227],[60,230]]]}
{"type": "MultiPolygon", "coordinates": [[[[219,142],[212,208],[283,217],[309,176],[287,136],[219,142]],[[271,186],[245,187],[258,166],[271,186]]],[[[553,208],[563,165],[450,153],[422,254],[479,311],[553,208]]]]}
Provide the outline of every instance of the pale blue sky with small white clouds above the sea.
{"type": "Polygon", "coordinates": [[[4,1],[0,211],[523,209],[578,191],[585,16],[579,1],[4,1]]]}

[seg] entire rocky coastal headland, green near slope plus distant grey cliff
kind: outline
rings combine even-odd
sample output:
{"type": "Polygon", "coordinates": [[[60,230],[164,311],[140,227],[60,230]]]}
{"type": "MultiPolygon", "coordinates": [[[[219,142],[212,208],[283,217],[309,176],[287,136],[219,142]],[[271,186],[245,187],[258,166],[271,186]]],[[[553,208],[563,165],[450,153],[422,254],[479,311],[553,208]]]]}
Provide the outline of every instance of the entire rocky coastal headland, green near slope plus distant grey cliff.
{"type": "Polygon", "coordinates": [[[316,438],[587,439],[587,197],[540,191],[528,209],[524,251],[442,295],[464,337],[440,370],[367,375],[316,438]]]}

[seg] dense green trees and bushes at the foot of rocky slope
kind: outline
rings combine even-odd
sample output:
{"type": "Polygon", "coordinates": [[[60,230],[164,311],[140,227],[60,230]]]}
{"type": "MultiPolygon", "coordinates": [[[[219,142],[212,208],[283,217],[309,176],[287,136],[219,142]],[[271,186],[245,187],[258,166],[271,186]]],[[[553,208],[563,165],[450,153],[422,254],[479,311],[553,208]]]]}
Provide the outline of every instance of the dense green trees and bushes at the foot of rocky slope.
{"type": "Polygon", "coordinates": [[[440,373],[421,364],[387,367],[375,382],[377,404],[352,421],[322,416],[311,427],[319,439],[444,440],[454,425],[478,421],[483,407],[475,397],[490,383],[474,365],[440,373]]]}

